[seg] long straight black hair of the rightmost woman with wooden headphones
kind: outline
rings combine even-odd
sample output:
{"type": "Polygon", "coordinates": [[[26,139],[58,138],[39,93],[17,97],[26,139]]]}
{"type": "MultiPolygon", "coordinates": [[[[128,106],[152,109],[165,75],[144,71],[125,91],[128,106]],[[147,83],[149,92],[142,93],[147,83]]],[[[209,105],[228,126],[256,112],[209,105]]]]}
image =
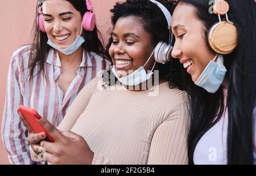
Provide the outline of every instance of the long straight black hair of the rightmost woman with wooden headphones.
{"type": "MultiPolygon", "coordinates": [[[[238,45],[230,53],[223,55],[227,69],[225,79],[228,83],[228,163],[253,164],[253,109],[256,100],[256,3],[254,1],[231,1],[229,20],[238,31],[238,45]]],[[[180,0],[177,3],[191,5],[196,16],[205,26],[205,39],[208,29],[218,16],[210,14],[209,1],[180,0]]],[[[208,43],[208,42],[207,42],[208,43]]],[[[209,45],[208,45],[209,46],[209,45]]],[[[193,153],[200,138],[218,122],[224,112],[222,86],[216,93],[208,93],[197,87],[188,74],[185,75],[185,89],[190,96],[189,108],[191,124],[188,134],[189,164],[193,164],[193,153]]]]}

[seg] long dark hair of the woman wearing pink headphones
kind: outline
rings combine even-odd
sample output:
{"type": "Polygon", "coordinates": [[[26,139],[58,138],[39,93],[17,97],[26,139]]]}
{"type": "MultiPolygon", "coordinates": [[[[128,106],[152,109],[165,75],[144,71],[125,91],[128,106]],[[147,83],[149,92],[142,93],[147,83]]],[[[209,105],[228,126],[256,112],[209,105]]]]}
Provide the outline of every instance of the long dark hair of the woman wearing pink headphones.
{"type": "MultiPolygon", "coordinates": [[[[65,0],[71,3],[73,7],[76,8],[77,11],[80,12],[81,16],[84,16],[85,12],[88,11],[86,7],[85,1],[81,0],[65,0]]],[[[40,6],[40,4],[38,4],[40,6]]],[[[41,5],[42,6],[42,5],[41,5]]],[[[41,7],[40,7],[41,8],[41,7]]],[[[46,57],[51,49],[51,46],[47,45],[48,37],[47,34],[40,31],[37,18],[38,18],[38,9],[39,7],[36,6],[36,16],[34,20],[34,26],[32,29],[32,33],[34,33],[34,40],[31,45],[31,52],[30,52],[30,59],[29,59],[29,75],[30,80],[36,75],[44,72],[44,65],[46,62],[46,57]],[[35,72],[35,67],[39,65],[39,69],[35,72]]],[[[103,47],[103,40],[100,31],[98,31],[97,27],[93,29],[92,32],[84,31],[82,36],[85,38],[84,44],[82,44],[82,48],[87,51],[92,51],[104,57],[104,47],[103,47]],[[100,37],[100,38],[99,38],[100,37]]]]}

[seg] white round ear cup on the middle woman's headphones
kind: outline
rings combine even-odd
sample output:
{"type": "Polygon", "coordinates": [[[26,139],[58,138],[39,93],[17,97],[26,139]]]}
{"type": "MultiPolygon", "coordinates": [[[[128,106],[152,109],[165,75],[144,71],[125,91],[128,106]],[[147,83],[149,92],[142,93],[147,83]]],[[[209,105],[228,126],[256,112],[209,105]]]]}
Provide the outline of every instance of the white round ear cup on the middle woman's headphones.
{"type": "Polygon", "coordinates": [[[172,48],[171,44],[159,42],[155,47],[155,61],[162,64],[170,61],[172,48]]]}

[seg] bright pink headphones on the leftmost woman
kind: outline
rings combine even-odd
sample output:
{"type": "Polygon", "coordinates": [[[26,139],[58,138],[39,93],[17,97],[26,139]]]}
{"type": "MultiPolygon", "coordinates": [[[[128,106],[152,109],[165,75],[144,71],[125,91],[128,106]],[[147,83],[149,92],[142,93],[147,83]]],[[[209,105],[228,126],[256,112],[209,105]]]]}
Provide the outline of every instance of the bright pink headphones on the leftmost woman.
{"type": "MultiPolygon", "coordinates": [[[[42,32],[46,32],[46,29],[44,29],[44,18],[43,18],[43,12],[39,10],[40,6],[42,6],[42,0],[38,1],[38,25],[39,29],[42,32]]],[[[93,7],[92,3],[90,0],[86,0],[86,7],[87,7],[87,12],[85,12],[84,16],[82,17],[82,27],[84,28],[85,31],[93,31],[95,25],[96,25],[96,16],[93,13],[93,7]]]]}

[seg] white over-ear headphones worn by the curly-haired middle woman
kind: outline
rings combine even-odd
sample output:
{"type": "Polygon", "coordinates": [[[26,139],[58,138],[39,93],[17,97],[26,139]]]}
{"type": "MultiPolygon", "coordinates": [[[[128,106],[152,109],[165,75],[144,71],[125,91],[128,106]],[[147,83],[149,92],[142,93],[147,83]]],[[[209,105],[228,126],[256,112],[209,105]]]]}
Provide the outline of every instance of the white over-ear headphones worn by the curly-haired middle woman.
{"type": "Polygon", "coordinates": [[[171,23],[172,23],[172,15],[167,10],[162,3],[155,1],[155,0],[149,0],[152,3],[155,3],[162,11],[164,16],[166,16],[167,23],[168,23],[168,30],[169,30],[169,42],[168,44],[166,42],[159,42],[155,47],[155,61],[158,63],[165,64],[168,61],[171,60],[171,53],[172,53],[172,38],[173,34],[171,32],[171,23]]]}

